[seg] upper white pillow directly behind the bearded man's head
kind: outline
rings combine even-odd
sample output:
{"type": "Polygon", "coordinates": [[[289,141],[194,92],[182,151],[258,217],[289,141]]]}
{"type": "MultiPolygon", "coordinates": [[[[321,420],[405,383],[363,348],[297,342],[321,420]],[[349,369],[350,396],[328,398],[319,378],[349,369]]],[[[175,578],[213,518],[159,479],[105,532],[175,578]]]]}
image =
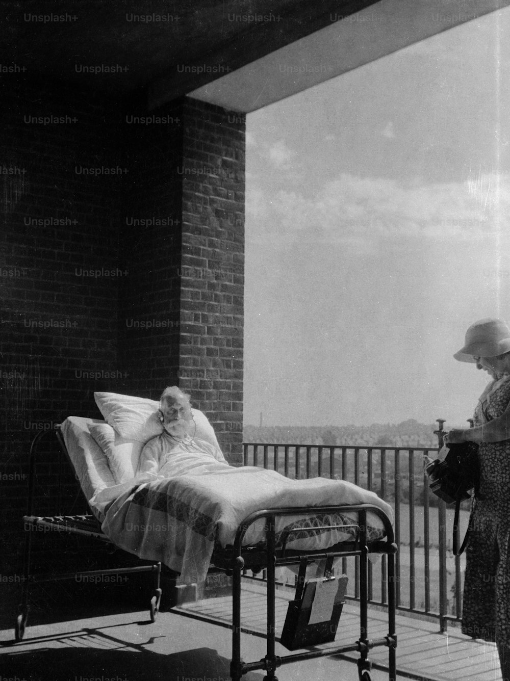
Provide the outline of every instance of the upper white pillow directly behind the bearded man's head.
{"type": "MultiPolygon", "coordinates": [[[[151,437],[162,432],[157,415],[159,402],[155,400],[119,395],[115,392],[95,392],[94,399],[105,421],[127,440],[137,440],[145,444],[151,437]]],[[[196,430],[191,428],[190,435],[220,449],[214,429],[206,415],[199,409],[191,409],[191,413],[196,430]]]]}

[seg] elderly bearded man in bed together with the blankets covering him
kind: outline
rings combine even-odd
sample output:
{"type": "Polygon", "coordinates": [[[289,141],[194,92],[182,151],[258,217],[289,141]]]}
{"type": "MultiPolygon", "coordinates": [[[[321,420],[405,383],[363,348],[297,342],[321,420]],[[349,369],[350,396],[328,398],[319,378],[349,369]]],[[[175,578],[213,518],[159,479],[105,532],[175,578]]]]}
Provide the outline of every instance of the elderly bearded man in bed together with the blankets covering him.
{"type": "MultiPolygon", "coordinates": [[[[373,492],[322,477],[289,479],[255,466],[230,466],[220,450],[195,438],[189,398],[167,388],[160,402],[161,434],[142,449],[136,477],[106,488],[91,500],[103,513],[103,532],[120,548],[147,560],[161,560],[180,572],[180,581],[204,583],[214,545],[234,542],[244,518],[255,511],[296,507],[296,516],[276,520],[276,542],[285,527],[303,531],[287,546],[323,550],[351,539],[357,512],[315,515],[317,506],[368,503],[390,519],[392,509],[373,492]],[[305,509],[305,510],[304,510],[305,509]],[[323,530],[323,526],[341,526],[323,530]]],[[[368,538],[383,535],[383,522],[368,513],[368,538]]],[[[254,523],[244,544],[265,539],[265,521],[254,523]]]]}

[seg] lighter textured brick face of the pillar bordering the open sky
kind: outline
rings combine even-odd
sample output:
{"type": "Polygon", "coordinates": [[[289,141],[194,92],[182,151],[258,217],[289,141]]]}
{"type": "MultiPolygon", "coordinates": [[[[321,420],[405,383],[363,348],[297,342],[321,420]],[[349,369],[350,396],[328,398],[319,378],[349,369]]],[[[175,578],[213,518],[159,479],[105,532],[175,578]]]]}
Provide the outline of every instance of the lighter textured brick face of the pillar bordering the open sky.
{"type": "Polygon", "coordinates": [[[180,385],[242,460],[244,116],[185,100],[180,385]]]}

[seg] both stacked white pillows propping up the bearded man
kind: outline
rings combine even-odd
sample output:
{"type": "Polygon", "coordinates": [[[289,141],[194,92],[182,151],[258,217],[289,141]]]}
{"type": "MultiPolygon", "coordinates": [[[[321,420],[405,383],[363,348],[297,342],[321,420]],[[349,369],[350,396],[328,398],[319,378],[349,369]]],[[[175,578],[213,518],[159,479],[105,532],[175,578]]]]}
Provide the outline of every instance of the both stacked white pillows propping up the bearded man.
{"type": "MultiPolygon", "coordinates": [[[[136,475],[146,442],[163,432],[157,413],[159,402],[114,392],[95,392],[94,399],[106,423],[91,424],[89,432],[106,454],[117,484],[127,482],[136,475]]],[[[191,409],[191,413],[196,424],[191,436],[219,449],[206,415],[198,409],[191,409]]]]}

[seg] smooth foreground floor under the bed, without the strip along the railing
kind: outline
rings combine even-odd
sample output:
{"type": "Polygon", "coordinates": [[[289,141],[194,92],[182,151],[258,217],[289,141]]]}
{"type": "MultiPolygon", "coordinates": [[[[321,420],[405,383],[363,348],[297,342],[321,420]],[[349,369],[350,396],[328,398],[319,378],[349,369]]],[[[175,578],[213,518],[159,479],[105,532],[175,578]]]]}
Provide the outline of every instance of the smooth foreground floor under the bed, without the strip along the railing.
{"type": "MultiPolygon", "coordinates": [[[[27,629],[25,639],[12,643],[12,630],[1,631],[2,681],[227,681],[231,637],[215,624],[162,612],[155,623],[147,612],[123,613],[27,629]]],[[[264,639],[242,635],[246,661],[265,655],[264,639]]],[[[278,652],[285,649],[278,646],[278,652]]],[[[351,661],[324,657],[285,665],[279,681],[355,681],[351,661]]],[[[251,671],[243,681],[262,681],[264,672],[251,671]]],[[[387,681],[375,669],[372,681],[387,681]]],[[[402,681],[402,677],[398,677],[402,681]]]]}

